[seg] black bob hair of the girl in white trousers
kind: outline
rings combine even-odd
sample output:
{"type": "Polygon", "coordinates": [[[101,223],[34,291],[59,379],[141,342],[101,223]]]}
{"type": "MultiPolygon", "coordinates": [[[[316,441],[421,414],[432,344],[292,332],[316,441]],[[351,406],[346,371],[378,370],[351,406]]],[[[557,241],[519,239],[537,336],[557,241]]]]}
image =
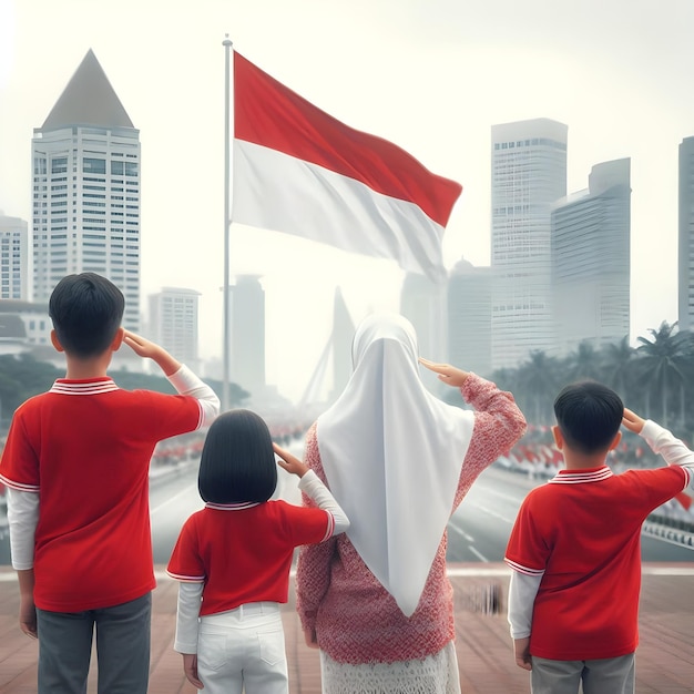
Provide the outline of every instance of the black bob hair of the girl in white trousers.
{"type": "Polygon", "coordinates": [[[262,417],[237,409],[210,427],[200,460],[197,489],[204,501],[267,501],[277,487],[273,440],[262,417]]]}

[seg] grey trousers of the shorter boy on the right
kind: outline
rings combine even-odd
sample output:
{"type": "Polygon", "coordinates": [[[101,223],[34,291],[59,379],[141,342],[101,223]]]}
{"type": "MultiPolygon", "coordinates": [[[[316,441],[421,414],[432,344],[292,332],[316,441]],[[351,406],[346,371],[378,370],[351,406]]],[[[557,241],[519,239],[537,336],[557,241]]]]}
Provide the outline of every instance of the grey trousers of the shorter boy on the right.
{"type": "Polygon", "coordinates": [[[532,694],[634,694],[634,653],[594,661],[532,656],[532,694]]]}

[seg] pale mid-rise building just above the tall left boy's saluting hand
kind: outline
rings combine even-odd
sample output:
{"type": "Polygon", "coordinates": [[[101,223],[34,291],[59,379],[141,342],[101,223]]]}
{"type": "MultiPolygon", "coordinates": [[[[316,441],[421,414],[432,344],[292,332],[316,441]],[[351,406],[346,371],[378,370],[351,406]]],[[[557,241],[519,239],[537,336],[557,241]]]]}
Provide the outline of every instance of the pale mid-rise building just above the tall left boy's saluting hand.
{"type": "Polygon", "coordinates": [[[196,372],[200,370],[200,292],[181,287],[164,287],[150,295],[151,339],[196,372]]]}

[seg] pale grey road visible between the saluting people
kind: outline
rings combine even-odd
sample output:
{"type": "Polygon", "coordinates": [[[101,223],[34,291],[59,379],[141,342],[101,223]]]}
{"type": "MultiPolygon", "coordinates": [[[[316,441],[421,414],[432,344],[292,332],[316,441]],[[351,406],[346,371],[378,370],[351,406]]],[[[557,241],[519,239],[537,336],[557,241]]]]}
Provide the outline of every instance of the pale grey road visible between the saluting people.
{"type": "MultiPolygon", "coordinates": [[[[185,519],[203,502],[197,493],[195,463],[153,478],[150,493],[154,562],[166,564],[185,519]]],[[[299,502],[296,478],[279,470],[278,494],[299,502]]],[[[533,482],[490,468],[472,486],[449,523],[448,559],[453,562],[499,562],[522,499],[533,482]]],[[[694,549],[666,540],[642,537],[646,562],[692,562],[694,549]]],[[[0,523],[0,564],[10,563],[9,539],[0,523]]]]}

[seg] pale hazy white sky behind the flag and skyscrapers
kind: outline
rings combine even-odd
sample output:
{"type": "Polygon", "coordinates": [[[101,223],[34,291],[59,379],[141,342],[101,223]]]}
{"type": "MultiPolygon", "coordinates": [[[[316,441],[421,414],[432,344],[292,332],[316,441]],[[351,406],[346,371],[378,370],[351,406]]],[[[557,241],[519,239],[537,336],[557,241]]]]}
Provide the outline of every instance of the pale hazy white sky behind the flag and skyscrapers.
{"type": "MultiPolygon", "coordinates": [[[[463,185],[449,267],[489,263],[492,124],[567,123],[569,192],[592,165],[631,157],[632,336],[645,335],[677,318],[692,25],[692,0],[0,0],[0,208],[29,221],[33,129],[93,49],[141,131],[143,297],[201,292],[202,355],[220,356],[228,33],[317,106],[463,185]]],[[[355,320],[398,308],[392,262],[236,225],[231,248],[232,273],[264,277],[267,379],[292,398],[328,337],[336,286],[355,320]]]]}

